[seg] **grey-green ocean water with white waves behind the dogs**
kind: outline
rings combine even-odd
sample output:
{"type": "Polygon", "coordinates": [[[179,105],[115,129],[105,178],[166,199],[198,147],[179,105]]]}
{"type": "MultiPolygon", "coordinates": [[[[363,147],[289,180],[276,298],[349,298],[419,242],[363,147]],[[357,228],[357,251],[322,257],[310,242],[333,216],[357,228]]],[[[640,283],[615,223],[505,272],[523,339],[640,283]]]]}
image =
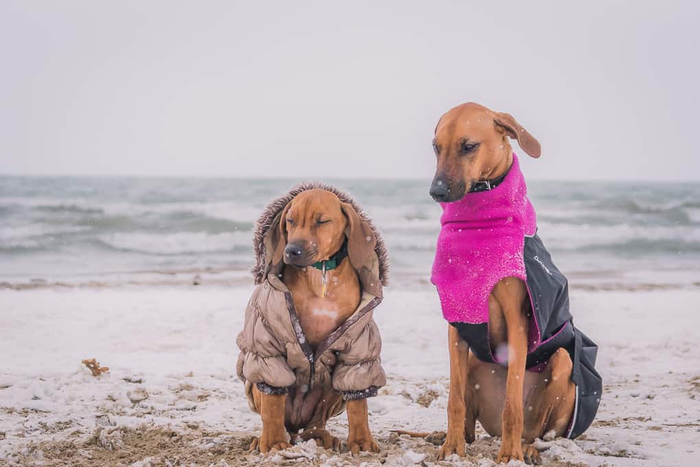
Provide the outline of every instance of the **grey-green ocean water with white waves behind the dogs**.
{"type": "MultiPolygon", "coordinates": [[[[440,206],[423,181],[326,180],[374,219],[397,286],[427,284],[440,206]]],[[[0,282],[246,277],[252,229],[293,180],[0,176],[0,282]]],[[[573,285],[700,284],[700,183],[528,181],[573,285]]]]}

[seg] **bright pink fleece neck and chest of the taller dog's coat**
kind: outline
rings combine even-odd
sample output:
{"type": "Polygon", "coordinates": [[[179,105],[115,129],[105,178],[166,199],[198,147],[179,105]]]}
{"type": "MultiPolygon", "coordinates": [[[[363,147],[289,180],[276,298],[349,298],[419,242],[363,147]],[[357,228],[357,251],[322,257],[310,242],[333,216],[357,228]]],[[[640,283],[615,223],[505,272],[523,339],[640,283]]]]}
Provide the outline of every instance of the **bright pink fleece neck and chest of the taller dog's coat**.
{"type": "Polygon", "coordinates": [[[510,171],[493,190],[440,205],[442,229],[431,280],[444,319],[488,323],[489,294],[496,282],[504,277],[526,280],[525,236],[537,230],[517,156],[513,154],[510,171]]]}

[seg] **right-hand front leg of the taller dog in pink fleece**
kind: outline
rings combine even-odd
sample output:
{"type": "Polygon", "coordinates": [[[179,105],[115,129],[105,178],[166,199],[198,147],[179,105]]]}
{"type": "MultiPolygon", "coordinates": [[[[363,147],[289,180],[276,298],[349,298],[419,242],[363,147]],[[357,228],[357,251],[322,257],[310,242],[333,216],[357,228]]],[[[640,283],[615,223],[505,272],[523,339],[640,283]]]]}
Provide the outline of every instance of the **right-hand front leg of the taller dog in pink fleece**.
{"type": "MultiPolygon", "coordinates": [[[[509,279],[506,279],[508,281],[509,279]]],[[[514,280],[514,279],[510,279],[514,280]]],[[[515,279],[517,280],[517,279],[515,279]]],[[[519,281],[521,293],[512,288],[505,296],[497,294],[505,322],[507,323],[508,370],[505,382],[505,405],[503,407],[500,452],[496,462],[508,463],[511,459],[524,461],[521,444],[523,433],[523,383],[527,357],[528,320],[522,303],[527,296],[525,285],[519,281]],[[500,295],[500,296],[499,296],[500,295]]]]}

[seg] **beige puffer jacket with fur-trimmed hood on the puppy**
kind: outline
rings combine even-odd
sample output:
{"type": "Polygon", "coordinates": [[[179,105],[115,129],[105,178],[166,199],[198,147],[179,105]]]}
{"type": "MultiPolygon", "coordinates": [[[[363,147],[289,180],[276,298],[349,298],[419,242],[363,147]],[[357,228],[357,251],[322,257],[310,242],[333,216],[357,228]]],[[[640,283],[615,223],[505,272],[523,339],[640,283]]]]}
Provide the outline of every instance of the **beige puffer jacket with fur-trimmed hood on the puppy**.
{"type": "Polygon", "coordinates": [[[237,373],[246,382],[248,397],[251,384],[257,384],[263,393],[286,393],[290,386],[306,393],[332,386],[343,393],[345,400],[376,395],[377,389],[386,384],[386,377],[379,359],[381,337],[372,313],[381,302],[388,256],[369,218],[344,193],[330,186],[306,183],[267,206],[258,219],[253,245],[257,285],[246,308],[244,329],[237,338],[241,349],[237,373]],[[274,264],[274,258],[281,257],[274,255],[274,251],[283,243],[275,238],[274,228],[279,225],[281,212],[293,197],[314,188],[335,193],[355,211],[349,215],[356,216],[356,222],[349,225],[356,228],[346,231],[348,259],[362,286],[360,305],[354,314],[315,351],[304,337],[292,294],[279,279],[283,263],[279,260],[274,264]]]}

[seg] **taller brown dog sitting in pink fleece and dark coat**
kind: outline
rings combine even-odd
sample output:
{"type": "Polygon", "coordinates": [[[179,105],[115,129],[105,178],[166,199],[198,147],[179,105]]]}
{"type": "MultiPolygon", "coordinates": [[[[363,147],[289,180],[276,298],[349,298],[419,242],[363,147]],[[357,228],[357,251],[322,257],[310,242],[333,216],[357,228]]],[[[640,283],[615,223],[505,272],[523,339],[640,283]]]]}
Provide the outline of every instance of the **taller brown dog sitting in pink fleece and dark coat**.
{"type": "Polygon", "coordinates": [[[442,207],[442,228],[431,280],[450,352],[440,458],[464,455],[478,419],[503,438],[497,461],[535,463],[535,438],[552,430],[576,438],[600,403],[597,346],[573,326],[566,277],[537,235],[510,139],[540,156],[512,116],[479,104],[451,109],[435,128],[430,195],[442,207]]]}

